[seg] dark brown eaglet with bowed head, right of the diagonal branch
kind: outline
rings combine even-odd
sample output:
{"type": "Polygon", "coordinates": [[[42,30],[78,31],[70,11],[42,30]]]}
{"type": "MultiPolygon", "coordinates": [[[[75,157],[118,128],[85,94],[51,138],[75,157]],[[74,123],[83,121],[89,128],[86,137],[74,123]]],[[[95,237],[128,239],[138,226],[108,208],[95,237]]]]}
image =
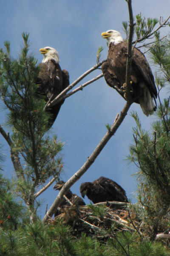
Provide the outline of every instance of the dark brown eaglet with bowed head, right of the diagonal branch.
{"type": "Polygon", "coordinates": [[[125,190],[115,181],[106,177],[82,183],[80,193],[83,198],[87,195],[94,204],[105,201],[128,202],[125,190]]]}

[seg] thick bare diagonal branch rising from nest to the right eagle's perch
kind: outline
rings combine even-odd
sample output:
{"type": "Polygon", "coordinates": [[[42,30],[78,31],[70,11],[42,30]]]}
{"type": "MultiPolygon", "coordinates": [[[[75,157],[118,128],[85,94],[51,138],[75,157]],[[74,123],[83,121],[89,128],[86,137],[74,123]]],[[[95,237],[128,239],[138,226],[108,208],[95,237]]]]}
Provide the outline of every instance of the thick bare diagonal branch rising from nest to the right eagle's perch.
{"type": "Polygon", "coordinates": [[[54,200],[54,203],[51,205],[48,212],[45,214],[43,218],[43,222],[48,221],[49,218],[52,217],[54,212],[56,211],[57,207],[59,206],[63,195],[65,192],[77,181],[79,178],[88,170],[88,168],[94,163],[96,160],[96,157],[100,154],[102,149],[105,147],[105,145],[108,143],[108,141],[111,139],[111,137],[115,134],[119,126],[122,124],[127,111],[130,108],[131,103],[126,102],[125,107],[123,108],[122,112],[120,112],[119,116],[116,116],[116,119],[111,126],[110,129],[108,129],[108,132],[105,134],[105,136],[100,141],[99,145],[96,146],[93,153],[90,157],[88,157],[88,160],[84,163],[84,165],[65,183],[65,185],[60,190],[57,198],[54,200]]]}

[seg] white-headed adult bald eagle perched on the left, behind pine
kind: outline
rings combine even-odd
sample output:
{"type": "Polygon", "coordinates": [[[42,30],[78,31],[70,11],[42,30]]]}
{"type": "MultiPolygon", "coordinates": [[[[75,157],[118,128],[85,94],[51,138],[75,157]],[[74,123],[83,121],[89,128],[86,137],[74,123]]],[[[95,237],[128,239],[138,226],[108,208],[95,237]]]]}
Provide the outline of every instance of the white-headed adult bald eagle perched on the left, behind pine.
{"type": "MultiPolygon", "coordinates": [[[[43,96],[46,102],[53,100],[59,93],[69,85],[69,74],[67,70],[61,70],[59,66],[59,55],[56,49],[44,47],[40,49],[44,55],[42,63],[39,64],[40,72],[37,78],[39,84],[38,95],[43,96]]],[[[53,125],[64,100],[47,109],[50,113],[48,128],[53,125]]]]}

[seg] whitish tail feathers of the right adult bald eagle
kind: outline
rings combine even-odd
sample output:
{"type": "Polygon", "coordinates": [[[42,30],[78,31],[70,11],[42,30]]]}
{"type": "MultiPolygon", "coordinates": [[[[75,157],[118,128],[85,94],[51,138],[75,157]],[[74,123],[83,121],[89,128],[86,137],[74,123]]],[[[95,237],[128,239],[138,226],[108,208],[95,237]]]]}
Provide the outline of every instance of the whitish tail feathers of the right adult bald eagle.
{"type": "Polygon", "coordinates": [[[140,87],[142,87],[142,95],[139,97],[139,104],[146,116],[152,115],[155,110],[155,106],[153,104],[150,91],[144,83],[141,83],[140,87]]]}

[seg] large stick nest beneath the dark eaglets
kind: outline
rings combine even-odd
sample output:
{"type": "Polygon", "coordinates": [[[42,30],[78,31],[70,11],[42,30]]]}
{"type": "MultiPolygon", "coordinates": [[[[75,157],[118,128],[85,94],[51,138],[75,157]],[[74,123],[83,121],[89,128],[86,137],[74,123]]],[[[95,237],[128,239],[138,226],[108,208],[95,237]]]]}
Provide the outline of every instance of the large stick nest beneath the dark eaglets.
{"type": "Polygon", "coordinates": [[[129,203],[113,201],[87,206],[71,205],[60,209],[60,212],[49,224],[55,225],[62,219],[72,227],[75,237],[86,233],[87,236],[105,241],[119,231],[133,232],[140,229],[129,203]]]}

